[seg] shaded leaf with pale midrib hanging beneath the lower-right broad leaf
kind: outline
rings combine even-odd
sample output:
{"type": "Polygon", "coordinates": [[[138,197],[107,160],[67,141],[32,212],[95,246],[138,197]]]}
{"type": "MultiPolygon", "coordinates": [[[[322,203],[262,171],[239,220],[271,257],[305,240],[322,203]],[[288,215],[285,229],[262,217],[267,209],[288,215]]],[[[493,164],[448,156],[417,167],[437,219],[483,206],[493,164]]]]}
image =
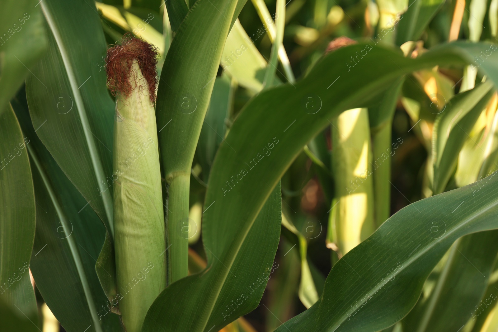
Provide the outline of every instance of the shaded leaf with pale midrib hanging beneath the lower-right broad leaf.
{"type": "Polygon", "coordinates": [[[410,312],[406,324],[418,332],[461,329],[486,291],[498,252],[497,236],[497,230],[490,230],[455,241],[430,297],[420,300],[423,305],[410,312]]]}

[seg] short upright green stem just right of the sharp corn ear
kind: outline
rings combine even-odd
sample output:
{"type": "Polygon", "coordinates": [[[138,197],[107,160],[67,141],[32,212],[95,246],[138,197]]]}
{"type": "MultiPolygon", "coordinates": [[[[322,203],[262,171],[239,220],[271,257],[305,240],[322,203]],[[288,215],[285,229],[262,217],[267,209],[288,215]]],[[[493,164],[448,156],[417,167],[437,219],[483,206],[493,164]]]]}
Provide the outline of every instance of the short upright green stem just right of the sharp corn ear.
{"type": "Polygon", "coordinates": [[[168,188],[168,238],[171,283],[188,274],[190,174],[173,177],[168,188]]]}

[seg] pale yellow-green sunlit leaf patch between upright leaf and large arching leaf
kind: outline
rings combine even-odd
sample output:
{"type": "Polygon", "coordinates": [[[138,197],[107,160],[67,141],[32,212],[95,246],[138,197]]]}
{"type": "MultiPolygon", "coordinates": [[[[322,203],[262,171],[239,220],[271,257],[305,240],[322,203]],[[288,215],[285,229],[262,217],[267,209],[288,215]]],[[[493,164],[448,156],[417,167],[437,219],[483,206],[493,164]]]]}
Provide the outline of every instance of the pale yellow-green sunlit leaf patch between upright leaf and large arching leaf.
{"type": "Polygon", "coordinates": [[[258,33],[249,37],[237,19],[228,34],[221,57],[223,69],[235,78],[240,86],[253,93],[263,89],[262,83],[266,68],[266,61],[254,46],[254,41],[258,37],[258,33]]]}

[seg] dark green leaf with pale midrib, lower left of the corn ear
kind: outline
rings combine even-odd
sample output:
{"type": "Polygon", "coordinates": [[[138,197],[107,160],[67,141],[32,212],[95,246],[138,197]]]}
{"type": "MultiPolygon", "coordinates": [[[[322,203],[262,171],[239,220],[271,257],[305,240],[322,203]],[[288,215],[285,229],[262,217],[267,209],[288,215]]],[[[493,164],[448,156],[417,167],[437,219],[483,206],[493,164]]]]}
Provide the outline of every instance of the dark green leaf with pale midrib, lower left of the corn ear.
{"type": "Polygon", "coordinates": [[[31,254],[36,285],[66,331],[123,331],[95,271],[105,227],[37,137],[22,93],[12,106],[30,141],[37,202],[31,254]]]}

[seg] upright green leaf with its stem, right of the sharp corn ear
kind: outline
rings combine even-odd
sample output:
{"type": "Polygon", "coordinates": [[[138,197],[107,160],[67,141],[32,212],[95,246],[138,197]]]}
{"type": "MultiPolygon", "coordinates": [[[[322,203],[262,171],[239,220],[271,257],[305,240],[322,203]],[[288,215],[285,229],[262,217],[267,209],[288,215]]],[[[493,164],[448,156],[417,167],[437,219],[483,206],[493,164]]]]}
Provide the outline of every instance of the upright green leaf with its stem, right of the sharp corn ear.
{"type": "Polygon", "coordinates": [[[197,1],[171,43],[159,80],[155,110],[168,184],[167,236],[173,282],[187,275],[188,236],[182,229],[188,220],[192,160],[236,4],[197,1]]]}

